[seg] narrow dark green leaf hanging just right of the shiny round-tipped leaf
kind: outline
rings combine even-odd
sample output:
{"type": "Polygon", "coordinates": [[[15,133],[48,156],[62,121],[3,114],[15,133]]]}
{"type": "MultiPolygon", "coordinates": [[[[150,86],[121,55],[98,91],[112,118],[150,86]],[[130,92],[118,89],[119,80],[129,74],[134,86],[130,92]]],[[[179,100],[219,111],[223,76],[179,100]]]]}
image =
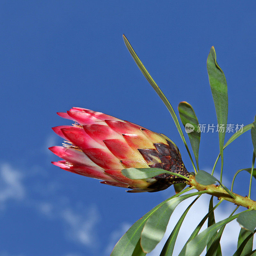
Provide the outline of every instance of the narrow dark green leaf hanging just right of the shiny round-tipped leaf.
{"type": "Polygon", "coordinates": [[[175,225],[175,227],[172,230],[171,235],[169,236],[166,243],[164,244],[164,247],[163,247],[163,250],[162,250],[160,256],[172,256],[174,245],[175,245],[177,236],[179,234],[182,222],[185,219],[189,209],[196,202],[196,200],[199,198],[199,196],[196,197],[196,199],[188,206],[188,208],[185,210],[185,212],[183,212],[183,214],[181,215],[180,220],[177,222],[177,224],[175,225]]]}

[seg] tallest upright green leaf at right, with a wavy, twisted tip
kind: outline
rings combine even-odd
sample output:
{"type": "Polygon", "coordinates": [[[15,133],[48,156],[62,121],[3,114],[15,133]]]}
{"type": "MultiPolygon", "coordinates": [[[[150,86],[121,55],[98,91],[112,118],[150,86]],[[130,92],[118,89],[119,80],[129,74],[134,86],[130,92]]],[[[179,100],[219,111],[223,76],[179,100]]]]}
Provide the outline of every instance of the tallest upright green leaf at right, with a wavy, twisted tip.
{"type": "Polygon", "coordinates": [[[223,171],[223,146],[228,121],[228,87],[223,71],[216,60],[216,52],[212,46],[207,58],[207,71],[212,90],[212,97],[215,105],[217,121],[219,124],[219,144],[220,144],[220,181],[222,181],[223,171]]]}

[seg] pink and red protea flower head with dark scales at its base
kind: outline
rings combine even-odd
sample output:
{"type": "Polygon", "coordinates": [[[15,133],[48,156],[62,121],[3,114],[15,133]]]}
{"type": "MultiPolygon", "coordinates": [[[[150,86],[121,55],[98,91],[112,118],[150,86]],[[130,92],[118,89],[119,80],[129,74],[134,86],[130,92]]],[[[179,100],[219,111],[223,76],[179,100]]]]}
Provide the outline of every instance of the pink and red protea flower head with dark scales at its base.
{"type": "Polygon", "coordinates": [[[190,175],[179,149],[163,134],[85,108],[57,114],[75,121],[72,126],[52,128],[64,139],[63,147],[49,148],[64,159],[52,164],[64,170],[103,180],[104,184],[132,188],[127,192],[156,192],[185,180],[170,174],[131,180],[122,174],[125,168],[157,167],[190,175]]]}

